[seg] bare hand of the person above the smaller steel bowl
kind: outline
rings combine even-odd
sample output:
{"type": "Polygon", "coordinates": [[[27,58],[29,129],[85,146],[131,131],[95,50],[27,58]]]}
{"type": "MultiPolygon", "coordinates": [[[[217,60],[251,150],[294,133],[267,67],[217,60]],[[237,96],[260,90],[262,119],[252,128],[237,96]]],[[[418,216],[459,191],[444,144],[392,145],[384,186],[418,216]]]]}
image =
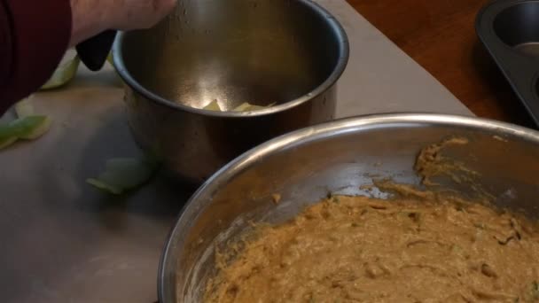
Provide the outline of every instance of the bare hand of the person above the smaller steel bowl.
{"type": "Polygon", "coordinates": [[[148,28],[176,6],[176,0],[69,0],[73,26],[71,45],[106,29],[148,28]]]}

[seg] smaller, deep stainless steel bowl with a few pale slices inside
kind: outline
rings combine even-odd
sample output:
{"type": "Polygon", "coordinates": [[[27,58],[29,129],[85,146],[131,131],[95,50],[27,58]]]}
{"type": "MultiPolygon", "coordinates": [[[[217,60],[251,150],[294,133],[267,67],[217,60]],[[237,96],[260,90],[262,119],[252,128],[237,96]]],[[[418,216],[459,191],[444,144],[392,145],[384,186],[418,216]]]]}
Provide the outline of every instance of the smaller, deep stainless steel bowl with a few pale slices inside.
{"type": "Polygon", "coordinates": [[[256,144],[332,120],[348,39],[309,0],[180,0],[157,27],[121,33],[113,55],[137,142],[201,183],[256,144]],[[213,100],[276,105],[200,109],[213,100]]]}

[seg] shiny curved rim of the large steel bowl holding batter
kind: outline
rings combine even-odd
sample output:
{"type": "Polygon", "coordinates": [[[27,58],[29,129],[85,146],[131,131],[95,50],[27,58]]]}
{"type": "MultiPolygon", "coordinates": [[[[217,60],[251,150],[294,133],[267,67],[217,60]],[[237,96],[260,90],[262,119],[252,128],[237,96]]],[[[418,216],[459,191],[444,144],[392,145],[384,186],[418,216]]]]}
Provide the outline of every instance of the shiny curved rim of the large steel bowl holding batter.
{"type": "Polygon", "coordinates": [[[227,165],[212,175],[206,183],[203,183],[196,190],[191,198],[187,200],[184,207],[177,216],[176,222],[168,234],[166,244],[161,255],[158,269],[158,296],[161,303],[168,303],[167,298],[167,265],[177,256],[172,255],[172,245],[174,239],[182,232],[187,233],[194,221],[191,214],[202,212],[205,207],[199,206],[196,201],[203,198],[208,193],[213,193],[223,184],[230,182],[236,175],[246,168],[262,161],[271,154],[292,148],[297,145],[306,144],[316,140],[337,136],[350,132],[363,132],[371,129],[394,127],[398,125],[420,126],[455,126],[460,128],[484,129],[497,136],[517,136],[527,141],[535,142],[539,145],[539,131],[520,127],[511,123],[484,118],[440,113],[376,113],[339,120],[324,122],[308,128],[301,128],[283,136],[277,136],[264,144],[254,147],[250,151],[244,152],[238,158],[233,159],[227,165]]]}

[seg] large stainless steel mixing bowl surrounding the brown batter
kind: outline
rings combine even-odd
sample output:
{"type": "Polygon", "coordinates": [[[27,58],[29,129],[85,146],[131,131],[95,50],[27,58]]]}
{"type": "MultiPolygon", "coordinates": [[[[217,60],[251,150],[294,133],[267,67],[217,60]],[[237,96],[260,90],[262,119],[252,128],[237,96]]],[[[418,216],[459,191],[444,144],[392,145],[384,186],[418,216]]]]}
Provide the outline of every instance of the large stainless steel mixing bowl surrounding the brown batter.
{"type": "MultiPolygon", "coordinates": [[[[498,206],[539,217],[539,133],[534,130],[435,114],[338,120],[244,153],[192,196],[161,260],[160,302],[199,301],[214,273],[215,245],[237,237],[248,221],[286,221],[328,192],[368,194],[360,185],[371,183],[373,175],[418,184],[413,170],[418,151],[451,136],[470,142],[448,149],[448,156],[480,173],[480,185],[498,206]],[[282,196],[278,205],[274,193],[282,196]]],[[[466,184],[442,185],[463,194],[469,190],[466,184]]]]}

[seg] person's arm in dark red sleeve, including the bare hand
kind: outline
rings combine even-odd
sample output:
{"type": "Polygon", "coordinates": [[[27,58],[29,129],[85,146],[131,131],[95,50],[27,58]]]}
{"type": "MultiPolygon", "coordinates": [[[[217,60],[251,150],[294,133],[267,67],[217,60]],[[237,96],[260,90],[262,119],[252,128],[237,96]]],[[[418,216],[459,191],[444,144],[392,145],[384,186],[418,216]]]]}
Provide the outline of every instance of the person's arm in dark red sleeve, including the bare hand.
{"type": "Polygon", "coordinates": [[[66,49],[109,29],[152,27],[176,0],[0,0],[0,115],[58,66],[66,49]]]}

